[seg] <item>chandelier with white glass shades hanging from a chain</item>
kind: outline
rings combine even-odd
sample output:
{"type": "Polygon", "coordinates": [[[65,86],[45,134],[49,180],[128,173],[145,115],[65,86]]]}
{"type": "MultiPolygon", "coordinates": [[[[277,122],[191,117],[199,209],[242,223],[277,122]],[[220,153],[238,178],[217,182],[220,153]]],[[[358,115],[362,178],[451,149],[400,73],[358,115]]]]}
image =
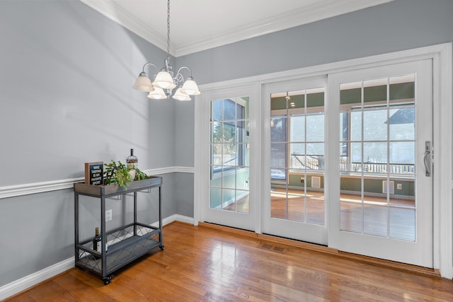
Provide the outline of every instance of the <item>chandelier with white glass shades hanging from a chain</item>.
{"type": "Polygon", "coordinates": [[[167,57],[164,61],[164,67],[159,71],[159,68],[150,62],[144,64],[142,72],[140,72],[132,88],[137,91],[149,92],[148,98],[156,100],[170,98],[170,96],[176,100],[190,100],[190,95],[200,94],[197,83],[193,80],[192,70],[188,66],[180,67],[174,74],[173,67],[170,65],[170,0],[167,1],[167,57]],[[157,74],[154,74],[152,83],[144,71],[147,66],[154,66],[158,71],[157,74]],[[184,80],[181,71],[185,69],[189,71],[189,76],[184,80]],[[176,92],[173,94],[174,88],[176,88],[176,92]]]}

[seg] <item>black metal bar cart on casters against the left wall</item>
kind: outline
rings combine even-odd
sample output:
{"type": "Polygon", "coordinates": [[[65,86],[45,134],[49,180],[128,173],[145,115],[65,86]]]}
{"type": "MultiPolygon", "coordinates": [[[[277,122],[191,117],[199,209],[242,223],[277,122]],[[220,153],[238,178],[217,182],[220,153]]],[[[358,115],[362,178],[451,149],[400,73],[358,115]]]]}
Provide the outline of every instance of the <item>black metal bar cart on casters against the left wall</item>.
{"type": "MultiPolygon", "coordinates": [[[[75,265],[101,276],[105,285],[109,284],[112,274],[138,257],[159,247],[164,250],[162,243],[162,178],[151,176],[144,180],[127,182],[126,187],[117,185],[86,185],[74,184],[74,223],[75,223],[75,265]],[[149,192],[151,188],[159,187],[159,226],[151,226],[137,221],[137,192],[149,192]],[[134,196],[134,222],[120,228],[105,231],[105,199],[111,197],[134,196]],[[101,201],[101,252],[93,250],[92,238],[79,239],[79,195],[97,197],[101,201]],[[108,242],[108,250],[106,245],[108,242]]],[[[122,198],[125,202],[126,198],[122,198]]]]}

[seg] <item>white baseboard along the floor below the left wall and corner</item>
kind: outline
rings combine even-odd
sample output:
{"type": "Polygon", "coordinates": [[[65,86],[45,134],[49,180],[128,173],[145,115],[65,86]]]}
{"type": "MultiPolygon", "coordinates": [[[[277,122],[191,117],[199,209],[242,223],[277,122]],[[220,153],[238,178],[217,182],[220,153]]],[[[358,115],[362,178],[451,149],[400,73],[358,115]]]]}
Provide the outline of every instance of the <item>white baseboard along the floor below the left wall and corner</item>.
{"type": "MultiPolygon", "coordinates": [[[[183,215],[174,214],[172,216],[168,216],[165,219],[162,219],[162,224],[165,226],[168,223],[172,223],[173,221],[181,221],[185,223],[193,224],[193,218],[183,215]]],[[[159,226],[159,222],[153,223],[153,225],[159,226]]],[[[165,239],[165,236],[164,236],[165,239]]],[[[46,267],[45,269],[41,269],[38,272],[33,274],[29,274],[21,279],[16,281],[12,281],[9,284],[0,287],[0,301],[11,297],[15,294],[20,293],[21,291],[25,291],[25,289],[29,289],[31,286],[41,283],[47,279],[50,279],[57,274],[61,274],[62,272],[66,272],[68,269],[74,267],[74,257],[71,257],[67,260],[63,260],[62,262],[55,263],[50,267],[46,267]]]]}

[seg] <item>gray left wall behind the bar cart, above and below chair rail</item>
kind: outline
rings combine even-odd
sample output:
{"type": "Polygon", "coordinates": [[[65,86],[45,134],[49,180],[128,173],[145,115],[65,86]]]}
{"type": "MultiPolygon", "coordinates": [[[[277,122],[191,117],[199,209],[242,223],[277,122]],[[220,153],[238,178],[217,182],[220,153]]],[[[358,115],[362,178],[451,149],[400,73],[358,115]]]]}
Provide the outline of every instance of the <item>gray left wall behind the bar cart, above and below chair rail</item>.
{"type": "MultiPolygon", "coordinates": [[[[2,0],[0,38],[0,187],[80,178],[86,161],[124,163],[131,148],[142,170],[175,165],[175,102],[132,89],[164,51],[76,0],[2,0]]],[[[167,217],[177,175],[163,176],[167,217]]],[[[88,236],[97,206],[84,205],[88,236]]],[[[0,286],[73,255],[72,190],[0,199],[0,286]]]]}

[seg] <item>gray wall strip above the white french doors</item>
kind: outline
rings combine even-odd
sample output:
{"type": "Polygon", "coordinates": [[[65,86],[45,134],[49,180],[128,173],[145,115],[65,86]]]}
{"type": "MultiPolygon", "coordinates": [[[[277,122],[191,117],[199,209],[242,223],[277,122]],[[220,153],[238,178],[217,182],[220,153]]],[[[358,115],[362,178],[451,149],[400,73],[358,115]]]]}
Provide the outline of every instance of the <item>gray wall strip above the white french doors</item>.
{"type": "Polygon", "coordinates": [[[453,40],[452,0],[395,0],[178,57],[197,83],[367,57],[453,40]]]}

